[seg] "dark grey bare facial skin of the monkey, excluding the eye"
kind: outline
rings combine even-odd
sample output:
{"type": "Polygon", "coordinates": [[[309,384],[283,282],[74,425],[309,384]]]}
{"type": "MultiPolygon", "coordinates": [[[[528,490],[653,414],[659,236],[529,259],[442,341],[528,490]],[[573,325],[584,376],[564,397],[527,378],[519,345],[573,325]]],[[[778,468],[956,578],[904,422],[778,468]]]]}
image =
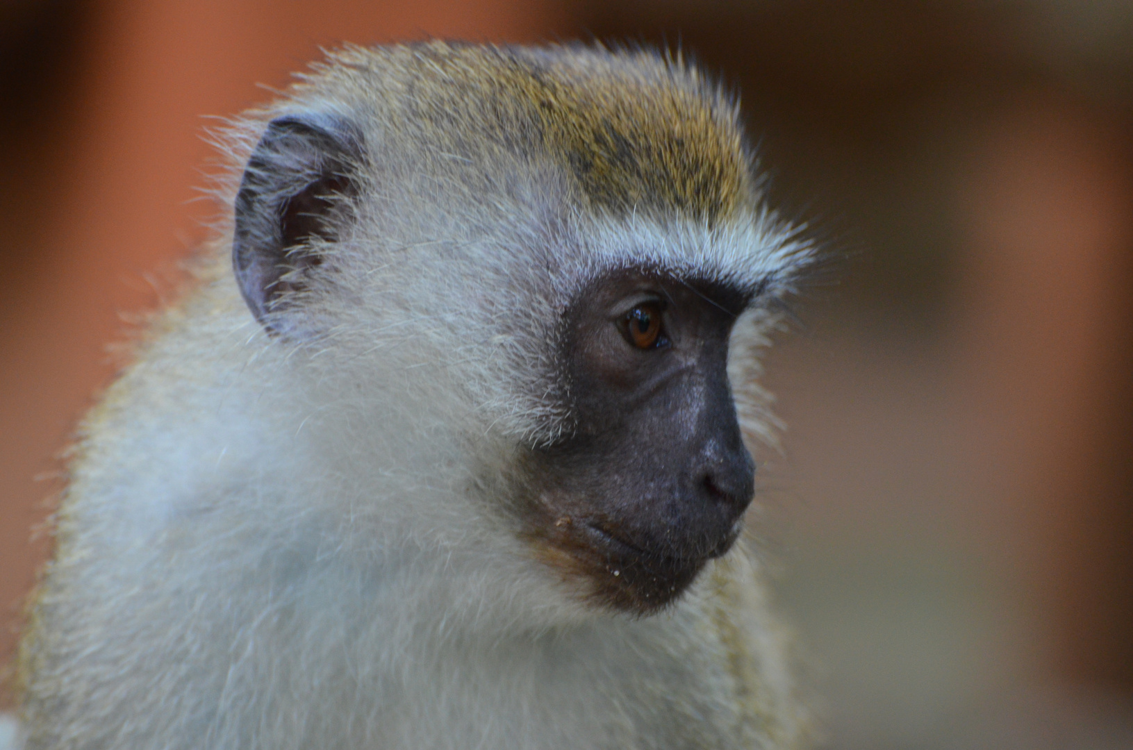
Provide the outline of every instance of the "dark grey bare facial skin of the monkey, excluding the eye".
{"type": "Polygon", "coordinates": [[[655,612],[740,532],[756,467],[726,365],[732,324],[750,299],[627,271],[593,283],[568,313],[562,361],[579,427],[536,452],[537,536],[566,553],[565,568],[600,603],[655,612]],[[662,316],[646,348],[629,330],[642,309],[662,316]]]}

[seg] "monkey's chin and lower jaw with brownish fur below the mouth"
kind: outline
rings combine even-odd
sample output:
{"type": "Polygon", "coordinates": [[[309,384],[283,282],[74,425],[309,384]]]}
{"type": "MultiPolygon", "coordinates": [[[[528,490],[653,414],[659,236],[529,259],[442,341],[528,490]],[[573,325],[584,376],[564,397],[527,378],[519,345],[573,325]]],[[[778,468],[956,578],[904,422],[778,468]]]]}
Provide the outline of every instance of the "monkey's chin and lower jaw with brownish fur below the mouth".
{"type": "Polygon", "coordinates": [[[534,540],[544,563],[590,606],[645,617],[675,603],[709,560],[727,554],[743,519],[696,551],[645,548],[599,521],[559,519],[552,528],[534,540]]]}

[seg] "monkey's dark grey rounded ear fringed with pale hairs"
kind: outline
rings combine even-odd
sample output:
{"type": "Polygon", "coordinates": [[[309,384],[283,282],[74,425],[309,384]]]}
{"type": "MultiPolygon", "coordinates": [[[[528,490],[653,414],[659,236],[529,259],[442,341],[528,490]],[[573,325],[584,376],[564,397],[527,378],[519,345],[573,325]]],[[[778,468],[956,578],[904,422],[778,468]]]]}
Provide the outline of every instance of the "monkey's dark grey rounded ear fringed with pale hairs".
{"type": "Polygon", "coordinates": [[[322,263],[313,239],[334,241],[343,198],[357,194],[360,146],[352,130],[323,116],[267,123],[236,196],[232,266],[244,300],[269,333],[289,327],[283,306],[322,263]]]}

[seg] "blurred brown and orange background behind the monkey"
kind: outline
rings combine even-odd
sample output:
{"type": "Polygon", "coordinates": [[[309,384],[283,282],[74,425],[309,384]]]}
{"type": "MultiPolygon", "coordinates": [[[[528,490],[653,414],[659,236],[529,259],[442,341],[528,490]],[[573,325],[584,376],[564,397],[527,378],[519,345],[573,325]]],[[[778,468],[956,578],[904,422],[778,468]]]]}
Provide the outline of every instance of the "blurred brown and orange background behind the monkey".
{"type": "Polygon", "coordinates": [[[426,35],[680,45],[742,93],[829,257],[761,528],[830,747],[1133,747],[1130,0],[3,0],[0,659],[107,346],[214,215],[207,117],[426,35]]]}

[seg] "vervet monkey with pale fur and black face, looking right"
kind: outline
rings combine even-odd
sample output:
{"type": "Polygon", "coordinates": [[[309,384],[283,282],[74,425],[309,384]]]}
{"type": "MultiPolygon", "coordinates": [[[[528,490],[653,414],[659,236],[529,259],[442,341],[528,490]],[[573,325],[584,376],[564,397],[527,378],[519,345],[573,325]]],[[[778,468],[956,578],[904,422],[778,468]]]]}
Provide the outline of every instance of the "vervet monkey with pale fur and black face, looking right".
{"type": "Polygon", "coordinates": [[[83,424],[26,747],[804,745],[732,389],[764,432],[810,249],[735,103],[650,51],[348,46],[229,147],[230,230],[83,424]]]}

